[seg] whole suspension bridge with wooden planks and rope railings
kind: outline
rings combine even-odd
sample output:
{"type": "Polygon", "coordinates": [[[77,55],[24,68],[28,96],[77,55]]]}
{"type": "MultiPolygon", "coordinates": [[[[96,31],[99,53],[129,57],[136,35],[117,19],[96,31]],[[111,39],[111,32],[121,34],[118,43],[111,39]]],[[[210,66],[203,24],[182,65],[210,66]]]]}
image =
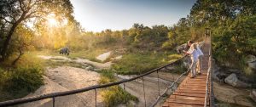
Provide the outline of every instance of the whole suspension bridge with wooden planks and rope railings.
{"type": "MultiPolygon", "coordinates": [[[[196,76],[195,78],[189,78],[189,70],[184,71],[180,76],[176,77],[176,80],[173,80],[172,84],[168,84],[166,90],[160,91],[160,71],[170,72],[168,68],[170,66],[175,66],[179,61],[183,60],[187,56],[183,56],[181,59],[177,59],[176,61],[156,68],[154,70],[150,70],[142,75],[135,76],[129,79],[123,79],[119,82],[111,82],[103,85],[95,85],[90,87],[84,87],[76,90],[70,90],[65,92],[58,93],[46,93],[38,96],[33,96],[29,98],[23,99],[14,99],[9,101],[0,102],[0,107],[2,106],[11,106],[11,105],[19,105],[26,104],[30,102],[35,102],[38,100],[51,99],[52,106],[55,107],[55,100],[61,96],[73,95],[77,93],[85,93],[89,91],[94,91],[95,93],[95,106],[97,106],[97,93],[99,89],[112,87],[112,86],[123,86],[122,88],[125,90],[125,83],[142,80],[143,82],[143,106],[145,107],[154,107],[154,106],[162,106],[162,107],[212,107],[214,106],[213,100],[213,89],[212,89],[212,52],[211,52],[211,33],[209,29],[206,29],[205,38],[202,45],[202,51],[204,53],[202,59],[202,74],[196,76]],[[153,102],[148,105],[146,102],[147,94],[145,90],[147,88],[144,87],[144,77],[148,76],[152,73],[157,74],[157,82],[158,82],[158,97],[155,98],[153,102]],[[187,76],[186,76],[187,75],[187,76]],[[183,76],[186,76],[183,79],[183,76]],[[183,79],[183,80],[182,80],[183,79]],[[182,81],[182,82],[181,82],[182,81]],[[175,86],[178,87],[176,88],[175,86]],[[169,94],[171,92],[171,95],[169,94]],[[168,96],[166,98],[166,96],[168,96]]],[[[127,86],[126,86],[127,87],[127,86]]],[[[126,91],[126,90],[125,90],[126,91]]],[[[152,101],[152,100],[150,100],[152,101]]],[[[126,103],[127,104],[127,103],[126,103]]]]}

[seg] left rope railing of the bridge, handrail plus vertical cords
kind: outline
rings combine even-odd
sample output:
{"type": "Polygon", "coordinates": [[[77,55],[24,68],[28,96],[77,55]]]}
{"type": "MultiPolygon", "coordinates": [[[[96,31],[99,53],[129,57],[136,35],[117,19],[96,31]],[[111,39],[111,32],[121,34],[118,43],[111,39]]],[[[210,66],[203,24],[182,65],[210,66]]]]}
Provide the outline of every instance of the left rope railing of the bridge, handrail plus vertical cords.
{"type": "MultiPolygon", "coordinates": [[[[52,99],[53,101],[53,104],[52,106],[55,107],[55,99],[57,97],[61,97],[61,96],[67,96],[67,95],[71,95],[71,94],[75,94],[75,93],[84,93],[84,92],[87,92],[87,91],[90,91],[90,90],[94,90],[95,91],[95,94],[96,93],[96,89],[98,88],[104,88],[104,87],[111,87],[111,86],[116,86],[116,85],[119,85],[119,84],[122,84],[124,85],[124,90],[125,90],[125,82],[131,82],[133,80],[136,80],[136,79],[139,79],[139,78],[142,78],[143,79],[143,76],[148,76],[149,74],[153,73],[153,72],[159,72],[160,70],[162,69],[167,69],[167,66],[170,66],[170,65],[173,65],[175,63],[177,63],[179,60],[185,58],[187,55],[184,55],[182,58],[180,59],[177,59],[176,61],[170,63],[170,64],[167,64],[167,65],[163,65],[159,68],[156,68],[154,70],[150,70],[142,75],[139,75],[139,76],[135,76],[135,77],[132,77],[130,79],[123,79],[119,82],[111,82],[111,83],[108,83],[108,84],[103,84],[103,85],[94,85],[94,86],[90,86],[90,87],[83,87],[83,88],[80,88],[80,89],[75,89],[75,90],[69,90],[69,91],[65,91],[65,92],[57,92],[57,93],[45,93],[45,94],[42,94],[42,95],[37,95],[37,96],[33,96],[33,97],[28,97],[28,98],[23,98],[23,99],[14,99],[14,100],[9,100],[9,101],[3,101],[3,102],[0,102],[0,107],[1,106],[9,106],[9,105],[16,105],[16,104],[25,104],[25,103],[29,103],[29,102],[33,102],[33,101],[38,101],[38,100],[43,100],[43,99],[52,99]]],[[[189,71],[189,70],[188,70],[189,71]]],[[[159,74],[158,74],[158,91],[159,91],[159,97],[157,98],[156,102],[152,105],[154,106],[155,104],[157,104],[160,100],[161,97],[163,97],[164,94],[166,94],[167,90],[172,88],[177,82],[178,80],[183,76],[185,75],[188,71],[184,72],[182,75],[180,75],[177,80],[175,82],[172,82],[172,85],[170,87],[167,87],[166,88],[166,91],[162,94],[160,94],[160,86],[159,86],[159,74]]],[[[145,107],[147,106],[146,105],[146,98],[145,98],[145,87],[144,87],[144,79],[143,79],[143,93],[144,93],[144,102],[145,102],[145,107]]],[[[96,98],[95,98],[95,103],[96,103],[96,98]]],[[[97,104],[97,103],[96,103],[97,104]]],[[[95,104],[95,105],[96,105],[95,104]]],[[[96,105],[97,106],[97,105],[96,105]]]]}

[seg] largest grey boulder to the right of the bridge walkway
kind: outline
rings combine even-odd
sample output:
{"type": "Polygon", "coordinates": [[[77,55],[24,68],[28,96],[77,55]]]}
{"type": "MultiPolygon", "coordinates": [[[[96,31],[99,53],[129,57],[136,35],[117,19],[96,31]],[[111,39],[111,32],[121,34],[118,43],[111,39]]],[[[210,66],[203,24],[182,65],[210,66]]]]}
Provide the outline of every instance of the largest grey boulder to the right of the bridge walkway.
{"type": "Polygon", "coordinates": [[[226,77],[224,79],[224,82],[233,87],[250,87],[251,86],[245,82],[241,82],[240,80],[238,80],[235,73],[232,73],[232,74],[230,74],[230,76],[226,77]]]}

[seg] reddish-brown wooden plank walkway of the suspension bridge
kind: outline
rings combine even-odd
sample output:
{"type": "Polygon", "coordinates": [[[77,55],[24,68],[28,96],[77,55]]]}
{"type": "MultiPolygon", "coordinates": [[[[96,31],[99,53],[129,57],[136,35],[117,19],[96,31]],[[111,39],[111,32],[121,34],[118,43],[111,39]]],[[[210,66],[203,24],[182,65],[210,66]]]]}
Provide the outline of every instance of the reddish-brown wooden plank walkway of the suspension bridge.
{"type": "MultiPolygon", "coordinates": [[[[177,87],[176,91],[166,99],[162,107],[203,107],[205,104],[207,87],[207,70],[209,61],[210,40],[206,40],[202,47],[202,74],[195,78],[189,75],[177,87]]],[[[209,106],[209,102],[207,102],[209,106]]]]}

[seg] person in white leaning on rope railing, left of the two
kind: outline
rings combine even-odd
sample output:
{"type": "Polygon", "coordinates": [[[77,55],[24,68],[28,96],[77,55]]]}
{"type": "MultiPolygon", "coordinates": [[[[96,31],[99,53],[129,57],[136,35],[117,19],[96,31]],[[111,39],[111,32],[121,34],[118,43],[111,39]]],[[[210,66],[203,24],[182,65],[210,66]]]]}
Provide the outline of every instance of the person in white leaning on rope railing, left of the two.
{"type": "Polygon", "coordinates": [[[196,63],[198,61],[198,57],[199,57],[199,54],[197,52],[197,45],[195,43],[193,43],[191,45],[191,47],[189,48],[189,51],[186,52],[185,54],[189,54],[190,55],[190,58],[192,60],[192,63],[190,65],[190,70],[191,70],[191,76],[190,78],[194,78],[196,75],[195,75],[195,66],[196,66],[196,63]]]}

